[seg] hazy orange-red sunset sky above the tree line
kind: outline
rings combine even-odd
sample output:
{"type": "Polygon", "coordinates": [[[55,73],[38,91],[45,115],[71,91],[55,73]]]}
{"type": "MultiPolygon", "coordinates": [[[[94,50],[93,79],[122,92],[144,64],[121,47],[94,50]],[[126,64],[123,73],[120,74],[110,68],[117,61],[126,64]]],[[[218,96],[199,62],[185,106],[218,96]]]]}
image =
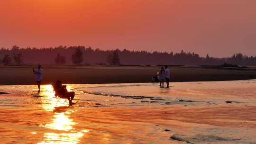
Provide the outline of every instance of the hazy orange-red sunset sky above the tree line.
{"type": "Polygon", "coordinates": [[[0,0],[0,46],[256,55],[256,0],[0,0]]]}

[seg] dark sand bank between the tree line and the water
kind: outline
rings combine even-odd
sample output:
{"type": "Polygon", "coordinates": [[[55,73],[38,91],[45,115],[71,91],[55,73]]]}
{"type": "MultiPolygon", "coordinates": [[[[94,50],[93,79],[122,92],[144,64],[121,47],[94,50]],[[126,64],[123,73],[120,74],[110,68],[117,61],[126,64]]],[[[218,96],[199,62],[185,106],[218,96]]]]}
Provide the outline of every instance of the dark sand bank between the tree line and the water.
{"type": "MultiPolygon", "coordinates": [[[[137,83],[151,82],[159,72],[155,66],[43,66],[42,84],[56,80],[64,83],[137,83]]],[[[170,67],[171,81],[229,81],[256,79],[247,69],[209,69],[200,66],[170,67]]],[[[31,66],[1,66],[0,85],[35,84],[31,66]]]]}

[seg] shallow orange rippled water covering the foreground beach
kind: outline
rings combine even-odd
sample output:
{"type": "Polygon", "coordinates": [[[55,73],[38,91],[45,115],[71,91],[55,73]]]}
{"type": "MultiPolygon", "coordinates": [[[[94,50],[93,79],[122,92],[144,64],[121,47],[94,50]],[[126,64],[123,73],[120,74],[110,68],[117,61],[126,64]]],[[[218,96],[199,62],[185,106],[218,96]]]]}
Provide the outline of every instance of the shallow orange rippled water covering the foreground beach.
{"type": "Polygon", "coordinates": [[[1,144],[256,144],[256,80],[68,89],[72,107],[51,85],[0,86],[1,144]]]}

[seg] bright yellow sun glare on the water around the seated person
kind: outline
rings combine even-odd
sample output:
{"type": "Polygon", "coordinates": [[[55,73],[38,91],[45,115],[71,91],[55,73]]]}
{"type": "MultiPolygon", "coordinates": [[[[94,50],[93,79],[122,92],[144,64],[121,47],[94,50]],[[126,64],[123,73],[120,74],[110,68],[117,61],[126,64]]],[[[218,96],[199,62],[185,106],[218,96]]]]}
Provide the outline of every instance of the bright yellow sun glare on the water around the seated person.
{"type": "MultiPolygon", "coordinates": [[[[71,88],[72,85],[67,85],[67,90],[71,91],[71,88]]],[[[40,93],[40,95],[44,95],[44,97],[42,97],[42,107],[46,111],[53,111],[54,116],[51,123],[40,125],[41,127],[48,128],[49,131],[44,134],[43,141],[37,144],[79,143],[79,138],[81,138],[84,133],[88,133],[89,130],[76,131],[75,128],[73,128],[76,123],[73,122],[73,119],[69,116],[74,111],[69,109],[70,107],[68,103],[65,102],[65,99],[56,99],[51,85],[46,85],[43,89],[42,94],[40,93]]]]}

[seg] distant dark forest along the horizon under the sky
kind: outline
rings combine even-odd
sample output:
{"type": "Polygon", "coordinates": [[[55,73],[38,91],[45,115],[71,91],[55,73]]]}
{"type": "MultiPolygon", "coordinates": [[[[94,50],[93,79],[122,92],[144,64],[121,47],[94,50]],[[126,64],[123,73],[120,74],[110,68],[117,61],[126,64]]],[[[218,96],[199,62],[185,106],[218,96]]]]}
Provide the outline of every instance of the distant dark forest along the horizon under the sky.
{"type": "MultiPolygon", "coordinates": [[[[109,64],[111,54],[118,54],[119,62],[125,65],[221,65],[223,63],[256,66],[256,56],[248,57],[243,54],[233,54],[231,57],[215,58],[207,54],[184,52],[147,52],[129,50],[100,50],[84,46],[58,46],[55,48],[19,48],[0,49],[0,62],[8,64],[74,64],[75,53],[79,53],[82,60],[76,64],[109,64]],[[79,50],[79,52],[77,52],[79,50]],[[82,52],[82,53],[81,53],[82,52]]],[[[79,55],[78,54],[78,55],[79,55]]]]}

